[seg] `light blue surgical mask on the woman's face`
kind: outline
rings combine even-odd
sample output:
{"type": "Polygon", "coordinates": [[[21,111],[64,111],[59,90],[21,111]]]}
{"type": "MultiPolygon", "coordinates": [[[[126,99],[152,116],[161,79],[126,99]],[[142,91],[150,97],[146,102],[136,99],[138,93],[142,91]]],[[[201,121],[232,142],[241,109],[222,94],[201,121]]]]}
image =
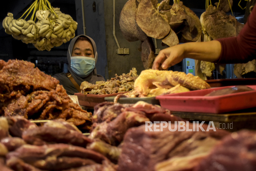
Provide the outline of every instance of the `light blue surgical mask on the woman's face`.
{"type": "Polygon", "coordinates": [[[73,56],[71,59],[71,69],[79,76],[88,76],[95,67],[95,58],[84,56],[73,56]]]}

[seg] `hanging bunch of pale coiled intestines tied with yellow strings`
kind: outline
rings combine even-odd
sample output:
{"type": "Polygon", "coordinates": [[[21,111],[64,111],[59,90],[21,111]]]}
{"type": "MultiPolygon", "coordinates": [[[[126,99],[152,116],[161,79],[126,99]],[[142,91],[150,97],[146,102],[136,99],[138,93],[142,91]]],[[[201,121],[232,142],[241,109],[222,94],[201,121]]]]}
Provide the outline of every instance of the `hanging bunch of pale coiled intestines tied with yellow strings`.
{"type": "Polygon", "coordinates": [[[53,8],[48,0],[36,0],[18,20],[8,13],[2,25],[13,38],[32,43],[38,50],[48,51],[74,38],[77,29],[77,22],[62,13],[60,8],[53,8]],[[30,20],[26,21],[32,11],[30,20]]]}

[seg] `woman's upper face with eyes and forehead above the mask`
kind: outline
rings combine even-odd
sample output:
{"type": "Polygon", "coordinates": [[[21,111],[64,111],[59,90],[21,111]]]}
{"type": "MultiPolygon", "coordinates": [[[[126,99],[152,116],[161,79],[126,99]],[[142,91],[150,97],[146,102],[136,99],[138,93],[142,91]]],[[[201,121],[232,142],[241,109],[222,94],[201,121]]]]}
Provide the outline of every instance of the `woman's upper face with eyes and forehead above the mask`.
{"type": "Polygon", "coordinates": [[[93,46],[86,40],[79,40],[73,47],[72,56],[86,56],[95,58],[93,46]]]}

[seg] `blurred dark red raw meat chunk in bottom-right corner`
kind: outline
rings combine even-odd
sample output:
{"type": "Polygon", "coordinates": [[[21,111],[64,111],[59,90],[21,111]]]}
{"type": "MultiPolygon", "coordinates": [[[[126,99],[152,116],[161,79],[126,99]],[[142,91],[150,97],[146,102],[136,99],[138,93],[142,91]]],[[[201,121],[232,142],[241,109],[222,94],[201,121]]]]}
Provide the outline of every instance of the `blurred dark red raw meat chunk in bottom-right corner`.
{"type": "Polygon", "coordinates": [[[256,132],[242,130],[225,137],[194,171],[255,171],[256,132]]]}

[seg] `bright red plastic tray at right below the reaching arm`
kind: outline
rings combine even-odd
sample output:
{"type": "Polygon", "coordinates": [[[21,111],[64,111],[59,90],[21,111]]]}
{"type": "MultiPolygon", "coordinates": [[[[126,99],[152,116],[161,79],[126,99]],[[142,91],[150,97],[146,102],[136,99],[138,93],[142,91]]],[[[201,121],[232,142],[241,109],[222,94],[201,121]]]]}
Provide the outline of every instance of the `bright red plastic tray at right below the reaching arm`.
{"type": "Polygon", "coordinates": [[[156,96],[156,99],[159,99],[162,107],[171,111],[225,113],[256,107],[256,85],[247,86],[255,89],[255,91],[253,90],[221,96],[204,96],[214,90],[233,87],[225,86],[156,96]]]}

